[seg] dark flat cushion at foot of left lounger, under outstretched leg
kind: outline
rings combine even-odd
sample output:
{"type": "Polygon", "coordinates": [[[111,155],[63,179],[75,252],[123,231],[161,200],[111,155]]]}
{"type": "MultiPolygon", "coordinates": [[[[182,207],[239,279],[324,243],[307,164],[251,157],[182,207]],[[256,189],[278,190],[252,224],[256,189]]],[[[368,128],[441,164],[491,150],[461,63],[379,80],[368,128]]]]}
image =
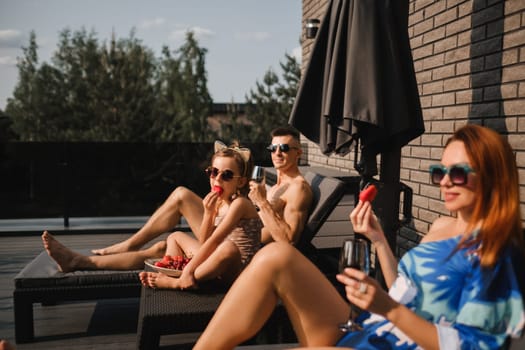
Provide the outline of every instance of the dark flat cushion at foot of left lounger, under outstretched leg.
{"type": "MultiPolygon", "coordinates": [[[[88,250],[80,251],[90,254],[88,250]]],[[[140,283],[138,273],[142,270],[85,270],[63,273],[57,264],[43,251],[24,267],[15,277],[16,288],[41,288],[53,286],[86,286],[98,284],[140,283]]]]}

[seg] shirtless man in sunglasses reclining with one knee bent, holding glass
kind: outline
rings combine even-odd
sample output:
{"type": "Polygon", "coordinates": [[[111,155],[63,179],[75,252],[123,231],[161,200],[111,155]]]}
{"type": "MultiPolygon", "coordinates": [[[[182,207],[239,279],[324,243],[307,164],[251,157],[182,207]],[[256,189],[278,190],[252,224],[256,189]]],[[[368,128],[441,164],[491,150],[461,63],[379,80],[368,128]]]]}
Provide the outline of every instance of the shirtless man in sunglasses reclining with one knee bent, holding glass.
{"type": "MultiPolygon", "coordinates": [[[[264,184],[250,183],[248,196],[260,208],[259,215],[264,224],[261,232],[262,243],[288,241],[296,243],[303,231],[312,203],[312,190],[299,172],[299,158],[302,150],[299,132],[291,127],[276,128],[271,132],[272,162],[277,170],[277,182],[266,193],[264,184]]],[[[144,244],[171,231],[184,216],[190,226],[195,216],[202,216],[202,204],[193,192],[177,187],[166,201],[153,213],[146,224],[128,239],[103,249],[93,250],[94,254],[106,255],[139,250],[144,244]]],[[[191,227],[198,232],[198,227],[191,227]]]]}

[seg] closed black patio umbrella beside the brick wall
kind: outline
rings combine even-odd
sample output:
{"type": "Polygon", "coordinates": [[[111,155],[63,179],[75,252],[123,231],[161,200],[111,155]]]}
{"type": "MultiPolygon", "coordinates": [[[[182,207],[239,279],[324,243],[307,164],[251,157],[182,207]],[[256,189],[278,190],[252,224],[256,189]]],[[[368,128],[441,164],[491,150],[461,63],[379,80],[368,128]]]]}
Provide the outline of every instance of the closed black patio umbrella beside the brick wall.
{"type": "Polygon", "coordinates": [[[395,248],[400,150],[424,132],[408,0],[329,0],[289,123],[326,155],[359,144],[356,170],[364,180],[377,175],[381,154],[374,207],[395,248]]]}

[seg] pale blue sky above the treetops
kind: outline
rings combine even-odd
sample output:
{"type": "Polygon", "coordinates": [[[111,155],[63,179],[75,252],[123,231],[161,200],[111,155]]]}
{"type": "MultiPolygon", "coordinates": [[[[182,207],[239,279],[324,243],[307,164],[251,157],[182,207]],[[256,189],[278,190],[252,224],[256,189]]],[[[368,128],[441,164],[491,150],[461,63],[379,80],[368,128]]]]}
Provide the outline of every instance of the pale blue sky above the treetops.
{"type": "Polygon", "coordinates": [[[301,0],[0,0],[0,109],[18,79],[16,58],[36,32],[39,60],[50,63],[58,33],[94,30],[102,42],[115,32],[154,50],[180,47],[187,30],[208,49],[208,89],[214,102],[244,102],[245,94],[285,53],[300,59],[301,0]]]}

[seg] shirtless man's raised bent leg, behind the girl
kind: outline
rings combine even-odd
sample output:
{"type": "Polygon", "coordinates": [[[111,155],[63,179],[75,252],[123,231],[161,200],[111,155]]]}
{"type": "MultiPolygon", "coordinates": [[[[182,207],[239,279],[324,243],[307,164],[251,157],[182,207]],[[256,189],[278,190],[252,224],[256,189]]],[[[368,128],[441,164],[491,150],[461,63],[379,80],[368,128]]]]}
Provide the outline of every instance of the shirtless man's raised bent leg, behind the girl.
{"type": "Polygon", "coordinates": [[[128,239],[102,249],[94,249],[93,254],[108,255],[134,251],[144,244],[171,231],[184,216],[192,232],[199,232],[204,208],[202,198],[186,187],[177,187],[166,201],[153,213],[146,224],[128,239]]]}

